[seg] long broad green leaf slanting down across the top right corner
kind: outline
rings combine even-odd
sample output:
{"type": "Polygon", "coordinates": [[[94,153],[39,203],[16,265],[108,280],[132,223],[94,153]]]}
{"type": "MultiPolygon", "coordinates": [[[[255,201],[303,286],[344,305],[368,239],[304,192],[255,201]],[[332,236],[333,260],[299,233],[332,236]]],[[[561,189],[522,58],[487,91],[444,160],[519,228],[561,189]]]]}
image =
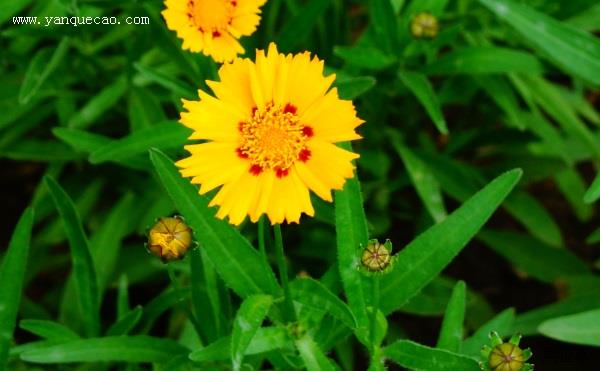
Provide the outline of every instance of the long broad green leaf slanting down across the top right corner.
{"type": "Polygon", "coordinates": [[[567,73],[600,85],[600,42],[593,35],[511,0],[479,0],[567,73]]]}

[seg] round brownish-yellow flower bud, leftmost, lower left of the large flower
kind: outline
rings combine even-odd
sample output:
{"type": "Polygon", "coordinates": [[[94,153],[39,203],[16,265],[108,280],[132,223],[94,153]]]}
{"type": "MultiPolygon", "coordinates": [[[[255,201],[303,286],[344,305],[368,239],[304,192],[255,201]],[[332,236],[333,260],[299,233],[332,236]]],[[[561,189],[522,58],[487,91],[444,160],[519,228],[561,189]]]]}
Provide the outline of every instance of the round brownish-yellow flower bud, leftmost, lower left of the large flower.
{"type": "Polygon", "coordinates": [[[148,250],[163,262],[181,259],[192,244],[192,230],[180,216],[162,217],[148,233],[148,250]]]}

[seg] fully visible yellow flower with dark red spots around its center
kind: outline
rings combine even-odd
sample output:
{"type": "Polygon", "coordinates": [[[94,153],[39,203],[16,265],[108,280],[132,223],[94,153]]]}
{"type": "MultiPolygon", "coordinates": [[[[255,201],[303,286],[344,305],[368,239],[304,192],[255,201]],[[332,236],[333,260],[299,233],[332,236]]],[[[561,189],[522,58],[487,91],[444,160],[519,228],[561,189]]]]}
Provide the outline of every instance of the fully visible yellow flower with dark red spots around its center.
{"type": "Polygon", "coordinates": [[[220,82],[207,81],[215,97],[199,91],[200,101],[183,101],[181,122],[190,139],[207,142],[185,148],[179,161],[200,194],[222,185],[210,205],[217,217],[240,224],[267,214],[271,223],[299,222],[314,215],[309,189],[331,201],[353,176],[357,154],[334,143],[360,139],[351,101],[330,89],[335,75],[323,76],[323,61],[309,52],[283,55],[271,43],[256,63],[236,59],[219,70],[220,82]]]}

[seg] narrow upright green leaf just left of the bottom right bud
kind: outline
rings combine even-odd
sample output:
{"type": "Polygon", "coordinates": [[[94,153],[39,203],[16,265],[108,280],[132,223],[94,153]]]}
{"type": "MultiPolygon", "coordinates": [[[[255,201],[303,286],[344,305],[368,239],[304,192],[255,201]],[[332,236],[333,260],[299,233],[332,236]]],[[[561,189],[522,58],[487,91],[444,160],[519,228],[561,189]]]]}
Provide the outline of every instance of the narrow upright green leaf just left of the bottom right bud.
{"type": "Polygon", "coordinates": [[[436,348],[460,352],[466,301],[467,287],[463,281],[459,281],[448,301],[436,348]]]}

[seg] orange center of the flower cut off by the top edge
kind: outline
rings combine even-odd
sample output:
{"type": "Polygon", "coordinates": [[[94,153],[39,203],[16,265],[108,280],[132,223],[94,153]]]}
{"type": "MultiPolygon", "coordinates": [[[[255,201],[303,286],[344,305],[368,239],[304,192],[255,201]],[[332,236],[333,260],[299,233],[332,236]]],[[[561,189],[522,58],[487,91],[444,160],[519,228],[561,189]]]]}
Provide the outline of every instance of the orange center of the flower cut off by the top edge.
{"type": "Polygon", "coordinates": [[[218,37],[227,29],[236,6],[233,0],[189,0],[188,18],[198,30],[218,37]]]}

